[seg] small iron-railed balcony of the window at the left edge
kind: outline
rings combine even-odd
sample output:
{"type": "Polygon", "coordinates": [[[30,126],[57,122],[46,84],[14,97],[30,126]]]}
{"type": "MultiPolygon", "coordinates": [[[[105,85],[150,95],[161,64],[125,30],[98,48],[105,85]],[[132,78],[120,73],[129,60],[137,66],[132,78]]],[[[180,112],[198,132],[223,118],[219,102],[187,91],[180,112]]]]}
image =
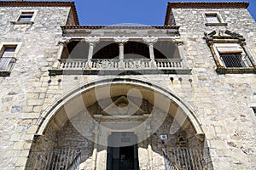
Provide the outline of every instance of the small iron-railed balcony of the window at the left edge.
{"type": "Polygon", "coordinates": [[[15,57],[1,57],[0,58],[0,76],[9,77],[15,62],[17,59],[15,57]]]}

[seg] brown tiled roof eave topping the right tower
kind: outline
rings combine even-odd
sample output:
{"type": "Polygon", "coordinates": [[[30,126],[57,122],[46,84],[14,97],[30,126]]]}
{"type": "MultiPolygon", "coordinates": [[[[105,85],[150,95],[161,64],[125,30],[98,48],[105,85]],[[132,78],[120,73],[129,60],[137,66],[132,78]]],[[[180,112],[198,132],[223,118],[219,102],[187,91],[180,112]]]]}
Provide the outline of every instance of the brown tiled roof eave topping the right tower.
{"type": "Polygon", "coordinates": [[[248,2],[188,2],[188,3],[168,3],[166,8],[166,19],[165,19],[165,26],[169,25],[170,14],[172,8],[247,8],[249,6],[248,2]]]}

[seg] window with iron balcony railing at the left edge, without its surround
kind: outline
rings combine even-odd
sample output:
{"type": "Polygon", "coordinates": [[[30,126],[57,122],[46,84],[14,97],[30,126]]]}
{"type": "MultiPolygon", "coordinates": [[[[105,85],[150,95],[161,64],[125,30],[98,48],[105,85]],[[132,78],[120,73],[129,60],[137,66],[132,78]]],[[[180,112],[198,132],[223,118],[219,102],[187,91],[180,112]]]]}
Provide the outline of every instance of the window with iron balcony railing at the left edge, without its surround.
{"type": "Polygon", "coordinates": [[[17,45],[3,45],[0,57],[0,76],[9,76],[15,64],[15,50],[17,45]]]}

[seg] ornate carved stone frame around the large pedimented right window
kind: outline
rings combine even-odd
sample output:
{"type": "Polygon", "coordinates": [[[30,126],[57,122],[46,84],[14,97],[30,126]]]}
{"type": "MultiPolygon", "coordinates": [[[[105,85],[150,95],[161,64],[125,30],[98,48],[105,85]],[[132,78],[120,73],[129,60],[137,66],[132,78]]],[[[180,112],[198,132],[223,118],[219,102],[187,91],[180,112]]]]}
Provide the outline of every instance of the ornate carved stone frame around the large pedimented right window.
{"type": "Polygon", "coordinates": [[[206,42],[212,52],[212,57],[217,65],[219,74],[225,73],[256,73],[256,59],[246,46],[245,38],[231,31],[205,32],[206,42]],[[220,48],[224,48],[220,51],[220,48]],[[230,48],[230,53],[229,49],[230,48]],[[231,50],[232,49],[232,50],[231,50]],[[242,54],[243,67],[228,67],[224,64],[221,54],[242,54]]]}

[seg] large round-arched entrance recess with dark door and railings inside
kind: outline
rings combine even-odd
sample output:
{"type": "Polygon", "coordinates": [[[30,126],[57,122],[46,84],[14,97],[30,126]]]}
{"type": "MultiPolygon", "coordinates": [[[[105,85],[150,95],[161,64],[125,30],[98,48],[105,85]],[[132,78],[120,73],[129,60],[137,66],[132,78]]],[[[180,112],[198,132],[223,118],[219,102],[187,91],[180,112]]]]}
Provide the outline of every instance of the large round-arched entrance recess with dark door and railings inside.
{"type": "Polygon", "coordinates": [[[209,166],[194,111],[176,94],[152,83],[120,78],[84,84],[43,116],[27,167],[209,166]],[[34,157],[41,161],[37,164],[34,157]]]}

